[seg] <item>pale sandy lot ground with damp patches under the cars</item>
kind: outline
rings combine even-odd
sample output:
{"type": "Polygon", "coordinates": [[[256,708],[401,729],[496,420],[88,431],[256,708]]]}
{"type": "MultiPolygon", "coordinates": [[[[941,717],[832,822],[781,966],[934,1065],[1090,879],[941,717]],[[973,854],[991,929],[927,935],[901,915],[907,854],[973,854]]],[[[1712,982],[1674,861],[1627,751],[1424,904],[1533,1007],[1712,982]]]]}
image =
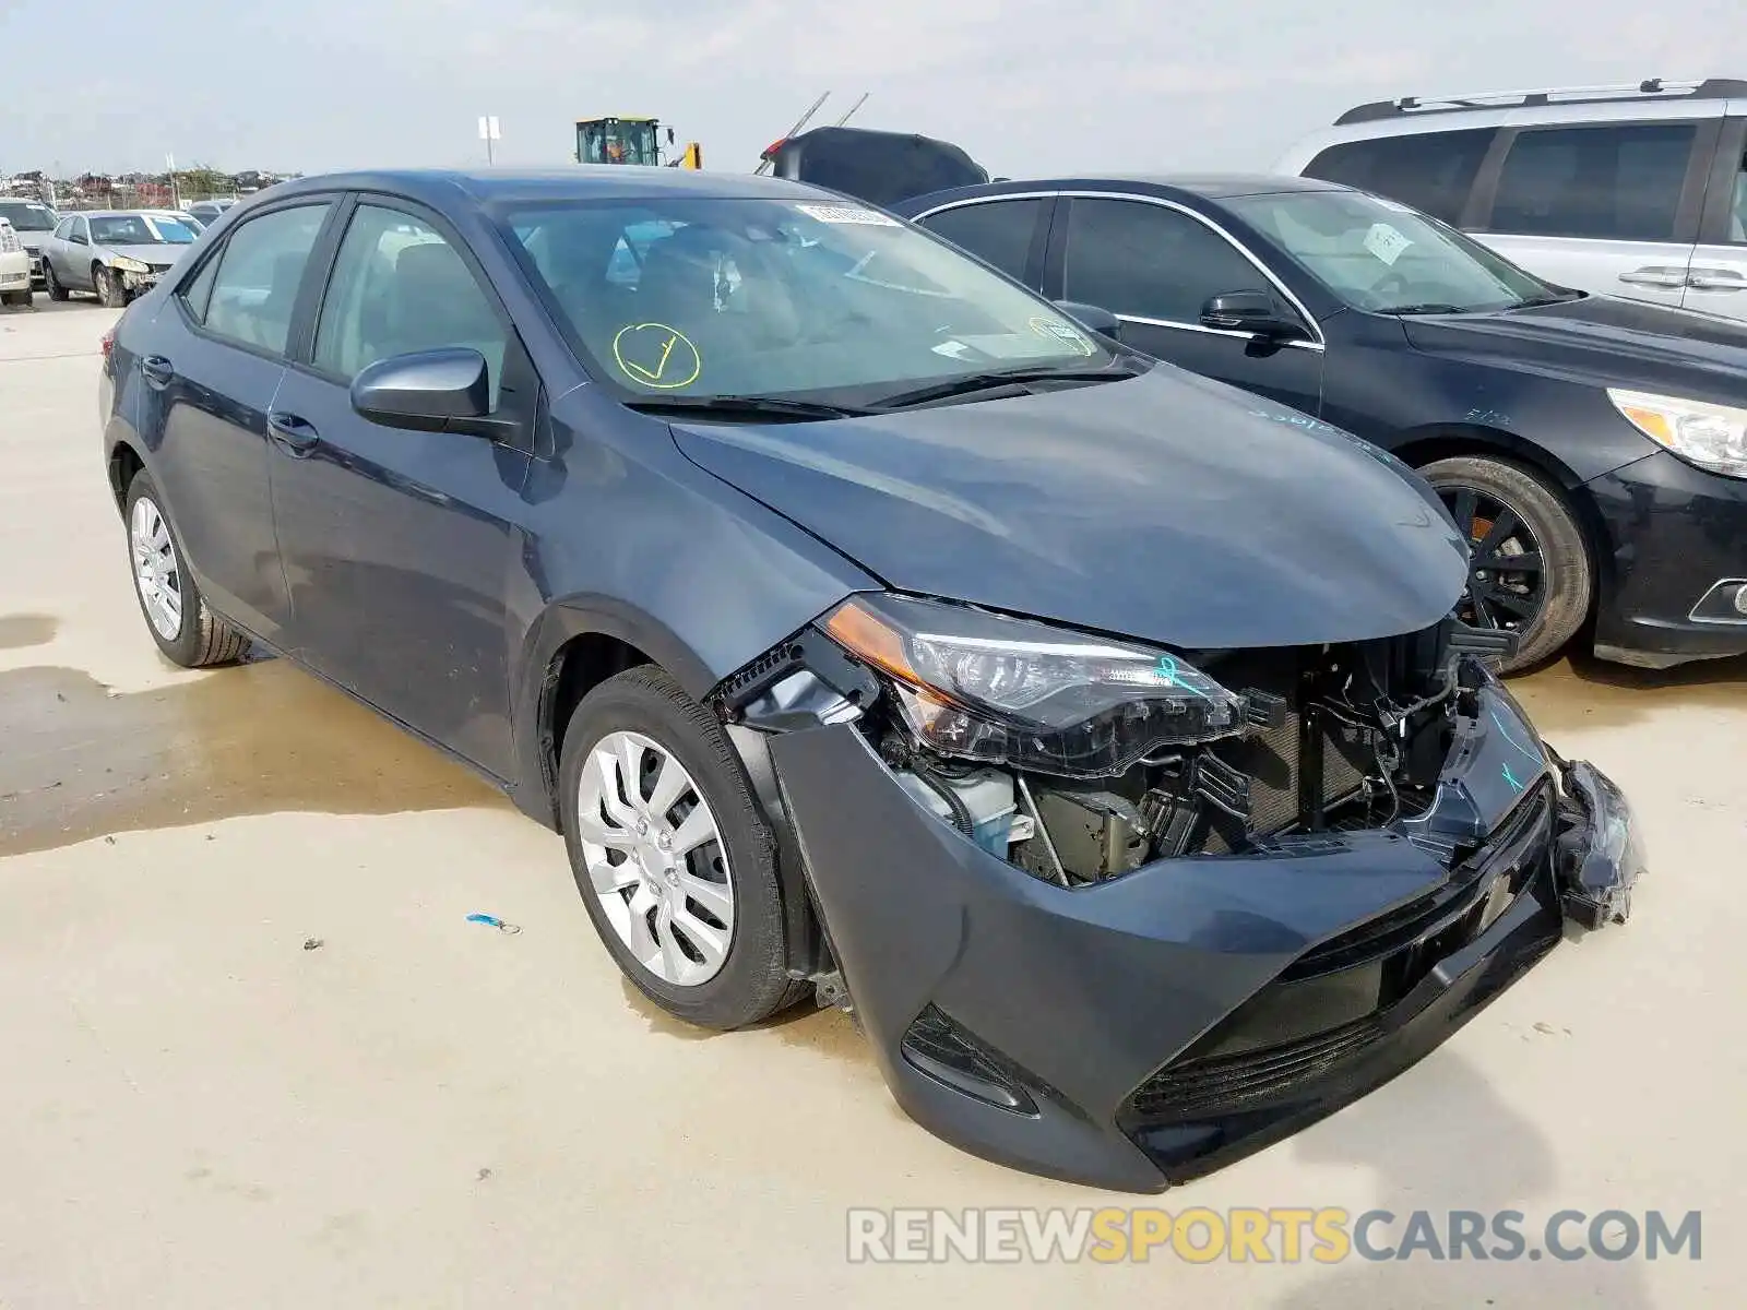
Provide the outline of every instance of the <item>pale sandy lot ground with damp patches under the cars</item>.
{"type": "Polygon", "coordinates": [[[1747,664],[1522,683],[1639,807],[1633,922],[1162,1202],[1696,1209],[1700,1261],[849,1265],[854,1205],[1143,1198],[929,1137],[840,1015],[667,1022],[554,835],[295,669],[162,664],[98,461],[114,314],[38,306],[0,313],[5,1310],[1740,1303],[1747,664]]]}

